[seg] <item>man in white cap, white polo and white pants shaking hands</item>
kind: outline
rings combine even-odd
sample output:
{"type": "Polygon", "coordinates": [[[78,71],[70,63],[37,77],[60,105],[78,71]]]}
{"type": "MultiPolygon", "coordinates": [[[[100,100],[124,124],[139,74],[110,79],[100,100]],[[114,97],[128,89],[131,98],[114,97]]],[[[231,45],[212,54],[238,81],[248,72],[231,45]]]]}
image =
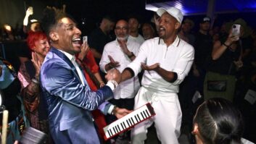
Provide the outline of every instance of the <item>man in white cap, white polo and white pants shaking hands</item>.
{"type": "Polygon", "coordinates": [[[159,38],[145,41],[136,59],[122,72],[122,81],[145,70],[142,87],[135,98],[134,109],[152,103],[156,116],[136,125],[132,130],[132,143],[146,140],[147,128],[153,122],[162,144],[176,144],[181,128],[181,107],[178,101],[178,85],[188,75],[194,60],[194,48],[178,38],[183,14],[179,9],[160,8],[159,38]]]}

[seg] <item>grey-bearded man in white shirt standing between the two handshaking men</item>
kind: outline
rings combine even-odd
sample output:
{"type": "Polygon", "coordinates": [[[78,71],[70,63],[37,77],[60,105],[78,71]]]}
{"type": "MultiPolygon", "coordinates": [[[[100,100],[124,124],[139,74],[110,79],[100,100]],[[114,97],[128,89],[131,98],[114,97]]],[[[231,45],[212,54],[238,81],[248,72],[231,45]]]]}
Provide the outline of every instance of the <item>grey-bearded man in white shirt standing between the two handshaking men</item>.
{"type": "MultiPolygon", "coordinates": [[[[122,72],[139,52],[139,43],[131,41],[129,38],[128,22],[119,20],[115,25],[115,35],[117,39],[104,46],[102,59],[99,62],[99,67],[103,72],[112,68],[122,72]]],[[[133,109],[133,98],[136,96],[139,87],[138,77],[121,82],[114,91],[114,98],[117,100],[115,104],[123,108],[133,109]]]]}

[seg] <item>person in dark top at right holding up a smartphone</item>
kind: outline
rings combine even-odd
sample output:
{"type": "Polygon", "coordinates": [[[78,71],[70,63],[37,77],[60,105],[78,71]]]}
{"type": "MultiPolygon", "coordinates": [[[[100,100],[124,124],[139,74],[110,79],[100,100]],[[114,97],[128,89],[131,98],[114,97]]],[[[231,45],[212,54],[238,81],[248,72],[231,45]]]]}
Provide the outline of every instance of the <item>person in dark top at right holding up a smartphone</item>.
{"type": "Polygon", "coordinates": [[[212,48],[212,59],[204,82],[205,99],[234,99],[236,72],[243,66],[241,62],[242,46],[239,39],[244,35],[244,27],[240,20],[228,23],[229,33],[226,38],[215,41],[212,48]]]}

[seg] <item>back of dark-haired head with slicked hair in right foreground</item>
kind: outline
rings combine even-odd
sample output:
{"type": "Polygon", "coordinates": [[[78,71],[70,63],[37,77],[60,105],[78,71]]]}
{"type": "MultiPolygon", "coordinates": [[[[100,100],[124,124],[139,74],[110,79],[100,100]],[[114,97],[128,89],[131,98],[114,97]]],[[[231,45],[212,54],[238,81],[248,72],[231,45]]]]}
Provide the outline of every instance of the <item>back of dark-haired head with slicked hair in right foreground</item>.
{"type": "Polygon", "coordinates": [[[230,101],[212,98],[194,116],[197,144],[241,144],[244,125],[241,113],[230,101]]]}

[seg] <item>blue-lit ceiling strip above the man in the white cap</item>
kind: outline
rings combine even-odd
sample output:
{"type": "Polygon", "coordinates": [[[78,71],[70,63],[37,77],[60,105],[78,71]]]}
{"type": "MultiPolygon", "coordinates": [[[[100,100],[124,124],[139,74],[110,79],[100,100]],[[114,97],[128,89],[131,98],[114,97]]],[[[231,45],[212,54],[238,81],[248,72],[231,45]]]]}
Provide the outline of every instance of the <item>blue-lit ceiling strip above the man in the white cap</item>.
{"type": "MultiPolygon", "coordinates": [[[[211,0],[215,1],[215,13],[256,12],[255,0],[211,0]]],[[[156,11],[159,7],[177,7],[184,15],[206,14],[208,0],[148,0],[146,9],[156,11]]]]}

